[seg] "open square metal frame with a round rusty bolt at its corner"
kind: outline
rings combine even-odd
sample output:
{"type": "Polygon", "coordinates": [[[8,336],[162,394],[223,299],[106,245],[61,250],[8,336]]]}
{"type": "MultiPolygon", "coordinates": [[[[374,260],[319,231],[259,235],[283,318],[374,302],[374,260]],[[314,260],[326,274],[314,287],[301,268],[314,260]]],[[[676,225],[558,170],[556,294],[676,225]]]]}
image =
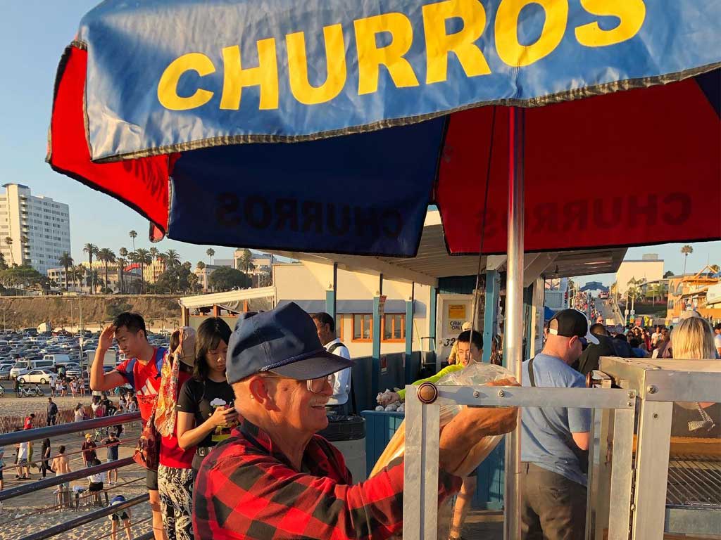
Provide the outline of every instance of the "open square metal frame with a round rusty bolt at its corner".
{"type": "MultiPolygon", "coordinates": [[[[430,383],[425,383],[429,385],[430,383]]],[[[437,398],[451,400],[459,405],[478,407],[569,407],[583,403],[585,408],[603,409],[606,423],[613,422],[614,429],[608,435],[613,444],[612,459],[604,471],[610,481],[609,504],[601,516],[597,516],[593,500],[598,495],[596,475],[590,467],[588,478],[588,507],[586,537],[593,538],[592,531],[603,526],[606,514],[609,540],[628,540],[631,523],[632,456],[634,413],[637,392],[634,390],[598,388],[539,388],[539,387],[487,387],[487,386],[438,386],[433,400],[423,402],[420,387],[407,386],[406,390],[406,439],[404,459],[403,493],[403,539],[435,540],[438,533],[438,444],[440,428],[440,405],[437,398]]],[[[649,414],[653,414],[649,411],[649,414]]],[[[520,418],[519,418],[520,426],[520,418]]],[[[593,436],[593,433],[591,434],[593,436]]],[[[603,437],[603,433],[601,434],[603,437]]],[[[591,438],[593,441],[593,438],[591,438]]],[[[593,445],[591,445],[593,447],[593,445]]],[[[609,456],[610,457],[610,456],[609,456]]],[[[593,463],[593,451],[589,462],[593,463]]],[[[605,461],[605,460],[602,460],[605,461]]],[[[665,490],[664,490],[665,492],[665,490]]],[[[650,536],[644,538],[651,538],[650,536]]],[[[638,537],[640,540],[641,537],[638,537]]],[[[634,539],[635,540],[635,539],[634,539]]]]}

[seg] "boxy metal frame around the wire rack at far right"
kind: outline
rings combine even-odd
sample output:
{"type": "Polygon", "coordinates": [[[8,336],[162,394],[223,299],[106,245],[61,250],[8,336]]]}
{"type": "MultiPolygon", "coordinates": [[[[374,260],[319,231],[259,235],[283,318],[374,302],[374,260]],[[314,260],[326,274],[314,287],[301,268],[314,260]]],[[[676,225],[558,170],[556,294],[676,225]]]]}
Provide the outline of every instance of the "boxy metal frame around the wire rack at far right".
{"type": "MultiPolygon", "coordinates": [[[[671,505],[667,508],[666,503],[673,402],[721,402],[721,361],[603,356],[601,371],[611,377],[616,386],[636,392],[640,402],[636,460],[629,474],[633,481],[631,539],[662,539],[664,532],[721,534],[721,511],[718,507],[671,505]]],[[[614,426],[604,420],[601,441],[609,440],[609,435],[614,432],[614,426]]],[[[618,447],[614,446],[614,454],[618,451],[618,447]]],[[[694,462],[694,459],[682,460],[681,464],[689,462],[694,462]]],[[[700,464],[700,467],[705,465],[700,464]]],[[[601,469],[603,480],[603,462],[601,469]]],[[[706,472],[719,474],[717,470],[708,468],[706,472]]],[[[672,471],[672,474],[676,472],[672,471]]],[[[697,477],[691,474],[691,470],[682,475],[694,492],[713,495],[709,490],[713,490],[715,477],[697,477]],[[704,480],[710,480],[710,485],[704,484],[704,480]]],[[[721,482],[715,486],[717,492],[721,490],[721,482]]],[[[607,504],[603,490],[599,491],[596,508],[604,512],[603,507],[607,504]]],[[[597,538],[602,538],[598,536],[600,532],[597,528],[597,538]]]]}

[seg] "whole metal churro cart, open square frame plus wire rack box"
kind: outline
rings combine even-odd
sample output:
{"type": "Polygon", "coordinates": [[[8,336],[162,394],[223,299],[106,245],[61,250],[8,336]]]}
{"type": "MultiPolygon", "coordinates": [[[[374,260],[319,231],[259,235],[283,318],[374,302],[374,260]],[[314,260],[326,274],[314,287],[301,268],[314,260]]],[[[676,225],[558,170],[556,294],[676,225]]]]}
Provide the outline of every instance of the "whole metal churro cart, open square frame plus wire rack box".
{"type": "Polygon", "coordinates": [[[592,408],[592,426],[600,433],[592,433],[589,456],[589,540],[721,535],[720,441],[689,437],[671,444],[673,402],[721,402],[721,361],[604,357],[595,374],[587,389],[407,387],[404,540],[436,538],[438,398],[490,407],[592,408]]]}

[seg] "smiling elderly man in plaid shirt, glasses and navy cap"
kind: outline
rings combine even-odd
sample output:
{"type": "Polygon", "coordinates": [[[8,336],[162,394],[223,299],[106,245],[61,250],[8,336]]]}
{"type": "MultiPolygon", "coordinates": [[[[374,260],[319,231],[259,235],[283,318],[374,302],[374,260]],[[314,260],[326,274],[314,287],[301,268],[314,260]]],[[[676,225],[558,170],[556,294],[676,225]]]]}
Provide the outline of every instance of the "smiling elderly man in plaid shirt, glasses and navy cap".
{"type": "MultiPolygon", "coordinates": [[[[329,353],[298,305],[244,313],[226,374],[244,419],[198,472],[196,539],[385,539],[402,531],[403,459],[353,485],[325,428],[329,375],[351,361],[329,353]]],[[[510,409],[464,409],[441,433],[438,500],[459,490],[451,472],[482,436],[506,433],[510,409]]]]}

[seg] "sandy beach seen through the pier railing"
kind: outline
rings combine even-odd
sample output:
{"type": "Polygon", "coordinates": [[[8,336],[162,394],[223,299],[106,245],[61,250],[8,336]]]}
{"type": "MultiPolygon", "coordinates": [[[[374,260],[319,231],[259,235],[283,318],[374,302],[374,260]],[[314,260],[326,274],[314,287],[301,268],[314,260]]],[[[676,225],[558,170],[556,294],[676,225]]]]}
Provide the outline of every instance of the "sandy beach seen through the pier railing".
{"type": "MultiPolygon", "coordinates": [[[[84,405],[89,405],[91,397],[86,395],[83,398],[80,397],[57,397],[53,398],[58,404],[59,409],[73,408],[78,402],[82,402],[84,405]]],[[[1,415],[17,415],[25,416],[30,413],[44,412],[47,405],[47,397],[31,397],[31,398],[16,398],[14,396],[4,397],[0,400],[0,414],[1,415]]],[[[125,425],[125,431],[121,436],[123,444],[120,445],[119,457],[132,456],[135,449],[136,440],[139,434],[139,423],[135,426],[125,425]]],[[[41,427],[41,426],[38,426],[41,427]]],[[[83,439],[81,433],[72,433],[64,436],[58,436],[51,438],[50,445],[52,454],[56,454],[58,446],[64,444],[66,446],[66,454],[70,460],[70,467],[72,470],[78,470],[83,467],[81,455],[78,453],[83,439]]],[[[99,443],[98,443],[99,444],[99,443]]],[[[40,441],[34,443],[34,456],[40,454],[40,441]]],[[[97,451],[98,458],[105,462],[106,450],[99,449],[97,451]]],[[[15,449],[12,446],[5,448],[5,463],[4,468],[4,487],[15,487],[21,483],[27,483],[28,480],[16,480],[13,463],[15,458],[15,449]]],[[[31,469],[31,481],[40,480],[42,475],[40,471],[33,467],[31,469]]],[[[53,473],[48,472],[52,475],[53,473]]],[[[71,482],[71,488],[74,486],[87,487],[88,481],[85,479],[75,480],[71,482]]],[[[142,469],[138,465],[131,467],[124,467],[118,470],[118,484],[108,485],[107,479],[105,479],[105,489],[107,490],[108,498],[112,499],[115,495],[123,495],[125,499],[133,498],[138,495],[143,495],[147,492],[145,487],[145,469],[142,469]]],[[[40,531],[43,528],[69,521],[73,518],[82,516],[84,513],[92,512],[97,510],[97,507],[88,506],[79,509],[60,509],[56,505],[56,496],[53,495],[53,491],[56,487],[50,487],[45,490],[32,492],[29,495],[23,495],[21,497],[6,500],[0,503],[0,540],[17,540],[21,539],[28,534],[40,531]]],[[[103,497],[105,500],[105,497],[103,497]]],[[[147,503],[136,505],[132,508],[131,522],[133,537],[140,536],[150,530],[150,508],[147,503]]],[[[69,540],[99,540],[103,538],[110,538],[110,518],[100,518],[97,521],[92,521],[87,525],[80,526],[73,531],[59,534],[56,538],[69,539],[69,540]]],[[[119,538],[125,538],[125,536],[119,536],[119,538]]]]}

